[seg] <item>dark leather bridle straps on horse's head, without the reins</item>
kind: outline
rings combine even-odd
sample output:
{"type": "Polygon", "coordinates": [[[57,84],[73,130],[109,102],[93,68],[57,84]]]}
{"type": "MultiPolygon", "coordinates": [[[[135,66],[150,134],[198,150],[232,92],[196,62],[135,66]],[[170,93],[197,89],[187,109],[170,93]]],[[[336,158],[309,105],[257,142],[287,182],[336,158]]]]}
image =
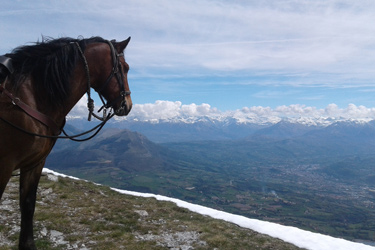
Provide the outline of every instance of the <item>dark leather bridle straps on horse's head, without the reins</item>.
{"type": "MultiPolygon", "coordinates": [[[[94,113],[94,100],[91,98],[91,92],[90,92],[91,82],[90,82],[89,66],[87,64],[86,57],[85,57],[81,47],[79,46],[79,44],[77,42],[75,43],[78,47],[78,50],[79,50],[80,54],[81,54],[81,57],[83,59],[84,65],[85,65],[85,70],[86,70],[87,85],[88,85],[88,87],[87,87],[87,108],[89,110],[89,116],[88,116],[89,121],[91,121],[92,116],[94,116],[95,118],[97,118],[101,121],[106,120],[107,119],[107,109],[108,108],[113,109],[113,105],[115,103],[117,103],[119,101],[119,99],[121,99],[120,107],[117,108],[114,111],[114,113],[115,114],[121,113],[123,110],[126,109],[126,99],[125,99],[125,97],[131,94],[130,91],[125,90],[124,74],[122,72],[122,64],[120,62],[120,57],[123,56],[124,53],[118,54],[117,51],[115,50],[113,44],[112,44],[112,41],[106,40],[105,42],[109,45],[109,47],[111,49],[111,57],[112,57],[113,68],[112,68],[111,74],[108,76],[108,78],[105,81],[105,83],[103,84],[103,86],[101,86],[99,89],[96,89],[96,92],[99,94],[100,100],[103,103],[103,106],[98,110],[98,112],[103,110],[103,117],[100,117],[100,116],[98,116],[94,113]],[[108,86],[108,84],[111,82],[113,77],[116,77],[117,83],[119,84],[120,95],[117,98],[115,98],[114,100],[107,101],[107,103],[105,103],[105,99],[104,99],[101,92],[108,86]]],[[[109,114],[110,113],[111,112],[109,112],[109,114]]]]}

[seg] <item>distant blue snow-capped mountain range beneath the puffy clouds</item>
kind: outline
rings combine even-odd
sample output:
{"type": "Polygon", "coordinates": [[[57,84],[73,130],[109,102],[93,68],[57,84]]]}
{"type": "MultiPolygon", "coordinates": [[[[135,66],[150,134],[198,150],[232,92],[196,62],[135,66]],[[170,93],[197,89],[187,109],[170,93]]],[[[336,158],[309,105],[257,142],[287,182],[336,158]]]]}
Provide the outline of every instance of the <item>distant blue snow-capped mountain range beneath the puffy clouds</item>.
{"type": "MultiPolygon", "coordinates": [[[[87,122],[83,118],[68,118],[72,126],[85,130],[94,127],[95,122],[87,122]]],[[[228,117],[228,116],[177,116],[169,119],[138,119],[117,118],[107,123],[107,128],[129,129],[147,136],[157,143],[205,141],[205,140],[236,140],[256,134],[286,133],[289,137],[304,132],[332,129],[335,126],[372,127],[375,122],[369,118],[351,119],[344,117],[228,117]],[[284,126],[284,128],[283,128],[284,126]],[[288,131],[293,127],[293,131],[288,131]],[[289,134],[289,133],[292,134],[289,134]]],[[[279,136],[279,135],[277,135],[279,136]]]]}

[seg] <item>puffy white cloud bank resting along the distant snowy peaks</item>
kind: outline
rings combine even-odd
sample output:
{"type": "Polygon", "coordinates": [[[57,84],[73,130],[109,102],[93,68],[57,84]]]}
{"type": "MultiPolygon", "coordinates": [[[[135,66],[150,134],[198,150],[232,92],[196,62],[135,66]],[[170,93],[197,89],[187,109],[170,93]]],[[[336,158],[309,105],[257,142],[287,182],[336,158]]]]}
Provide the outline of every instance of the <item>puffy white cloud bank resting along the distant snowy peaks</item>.
{"type": "MultiPolygon", "coordinates": [[[[86,117],[87,108],[85,98],[74,107],[69,114],[70,117],[86,117]]],[[[220,111],[207,103],[182,104],[180,101],[156,101],[155,103],[135,104],[127,119],[140,122],[158,121],[187,121],[195,122],[202,118],[224,121],[235,119],[238,122],[278,122],[281,119],[345,119],[345,120],[373,120],[375,119],[375,108],[356,106],[349,104],[340,108],[336,104],[329,104],[323,109],[308,107],[305,105],[283,105],[276,108],[253,106],[231,111],[220,111]]]]}

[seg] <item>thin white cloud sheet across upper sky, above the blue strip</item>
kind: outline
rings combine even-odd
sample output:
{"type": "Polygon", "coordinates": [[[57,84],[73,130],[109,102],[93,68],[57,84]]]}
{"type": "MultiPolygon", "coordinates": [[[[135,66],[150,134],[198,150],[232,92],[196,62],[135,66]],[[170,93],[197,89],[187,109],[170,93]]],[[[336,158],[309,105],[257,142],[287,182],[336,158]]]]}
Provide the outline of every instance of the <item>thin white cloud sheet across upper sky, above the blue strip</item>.
{"type": "Polygon", "coordinates": [[[374,12],[375,2],[366,0],[14,2],[0,10],[6,20],[0,31],[8,37],[1,46],[8,50],[40,34],[132,35],[127,53],[142,73],[330,73],[342,83],[375,77],[374,12]],[[29,15],[35,18],[25,32],[10,32],[29,15]]]}

